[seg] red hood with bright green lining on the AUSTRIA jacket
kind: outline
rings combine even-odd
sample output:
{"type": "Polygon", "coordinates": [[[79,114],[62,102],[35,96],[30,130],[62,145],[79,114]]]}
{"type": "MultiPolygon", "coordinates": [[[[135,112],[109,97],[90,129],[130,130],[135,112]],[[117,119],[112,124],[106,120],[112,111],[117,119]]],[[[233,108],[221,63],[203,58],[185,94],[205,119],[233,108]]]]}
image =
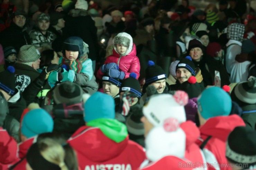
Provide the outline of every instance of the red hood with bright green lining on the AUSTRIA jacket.
{"type": "Polygon", "coordinates": [[[116,158],[128,144],[125,124],[115,119],[97,119],[78,129],[68,143],[88,160],[103,162],[116,158]]]}

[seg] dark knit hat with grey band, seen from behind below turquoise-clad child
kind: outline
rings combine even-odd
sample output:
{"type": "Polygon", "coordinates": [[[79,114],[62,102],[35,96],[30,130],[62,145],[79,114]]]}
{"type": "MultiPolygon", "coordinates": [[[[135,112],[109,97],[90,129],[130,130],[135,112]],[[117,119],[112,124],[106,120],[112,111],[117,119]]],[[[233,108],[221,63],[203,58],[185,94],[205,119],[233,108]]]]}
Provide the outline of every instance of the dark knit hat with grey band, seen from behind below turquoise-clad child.
{"type": "Polygon", "coordinates": [[[53,90],[53,99],[56,104],[79,103],[82,101],[83,90],[76,83],[62,82],[53,90]]]}

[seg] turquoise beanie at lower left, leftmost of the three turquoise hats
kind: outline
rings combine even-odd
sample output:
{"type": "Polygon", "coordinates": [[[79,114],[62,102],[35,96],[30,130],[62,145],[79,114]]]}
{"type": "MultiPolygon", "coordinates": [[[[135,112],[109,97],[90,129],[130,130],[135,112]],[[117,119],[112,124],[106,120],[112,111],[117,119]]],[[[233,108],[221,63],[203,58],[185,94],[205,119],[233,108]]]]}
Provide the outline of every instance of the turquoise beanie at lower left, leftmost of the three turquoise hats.
{"type": "Polygon", "coordinates": [[[27,138],[52,132],[53,118],[44,109],[31,110],[23,117],[20,130],[27,138]]]}

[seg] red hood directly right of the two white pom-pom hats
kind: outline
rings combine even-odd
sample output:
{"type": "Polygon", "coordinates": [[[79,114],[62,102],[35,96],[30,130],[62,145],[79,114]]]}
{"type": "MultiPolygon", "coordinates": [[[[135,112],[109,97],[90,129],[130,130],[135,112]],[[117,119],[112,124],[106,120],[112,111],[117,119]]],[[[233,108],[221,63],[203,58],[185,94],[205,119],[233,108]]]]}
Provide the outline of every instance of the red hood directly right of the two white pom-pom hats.
{"type": "Polygon", "coordinates": [[[186,148],[188,148],[200,137],[200,131],[192,121],[185,121],[180,124],[180,127],[186,134],[186,148]]]}

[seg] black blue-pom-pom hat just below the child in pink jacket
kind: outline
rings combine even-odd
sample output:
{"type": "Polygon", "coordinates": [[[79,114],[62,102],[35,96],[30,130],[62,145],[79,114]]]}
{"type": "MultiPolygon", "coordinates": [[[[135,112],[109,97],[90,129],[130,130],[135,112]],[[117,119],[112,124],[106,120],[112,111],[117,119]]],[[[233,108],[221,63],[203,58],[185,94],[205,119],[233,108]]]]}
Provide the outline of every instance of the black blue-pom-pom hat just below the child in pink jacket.
{"type": "Polygon", "coordinates": [[[137,75],[134,72],[130,73],[130,77],[127,79],[124,79],[124,81],[122,82],[119,89],[119,93],[129,90],[129,92],[135,94],[136,97],[140,98],[141,89],[140,89],[139,81],[136,79],[136,77],[137,75]]]}

